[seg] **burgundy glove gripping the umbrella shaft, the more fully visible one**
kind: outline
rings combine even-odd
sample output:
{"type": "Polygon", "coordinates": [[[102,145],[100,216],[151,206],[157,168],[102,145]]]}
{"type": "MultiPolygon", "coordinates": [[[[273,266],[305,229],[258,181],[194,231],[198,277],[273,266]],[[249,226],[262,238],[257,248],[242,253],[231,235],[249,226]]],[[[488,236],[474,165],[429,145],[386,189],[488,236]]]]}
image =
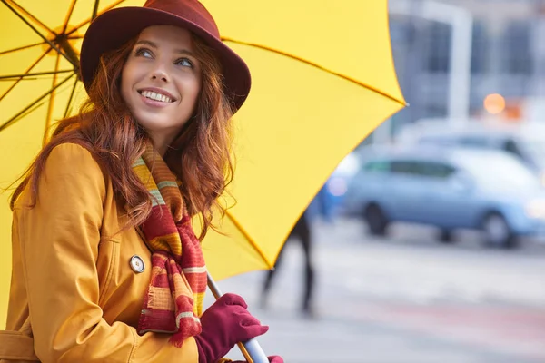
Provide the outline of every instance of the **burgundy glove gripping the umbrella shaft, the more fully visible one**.
{"type": "Polygon", "coordinates": [[[240,296],[225,294],[204,311],[201,317],[203,330],[195,336],[199,363],[214,363],[237,342],[250,340],[269,330],[269,327],[253,318],[247,308],[240,296]]]}

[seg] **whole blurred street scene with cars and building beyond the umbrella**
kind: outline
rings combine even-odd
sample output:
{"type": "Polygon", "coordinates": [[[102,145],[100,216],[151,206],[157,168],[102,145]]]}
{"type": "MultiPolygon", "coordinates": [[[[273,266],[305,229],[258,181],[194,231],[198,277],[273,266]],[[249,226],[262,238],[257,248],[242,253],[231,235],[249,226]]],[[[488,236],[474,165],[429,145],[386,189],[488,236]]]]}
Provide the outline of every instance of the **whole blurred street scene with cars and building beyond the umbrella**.
{"type": "Polygon", "coordinates": [[[545,1],[389,6],[410,107],[305,213],[311,313],[300,243],[286,245],[266,305],[265,272],[221,287],[290,363],[545,362],[545,1]]]}

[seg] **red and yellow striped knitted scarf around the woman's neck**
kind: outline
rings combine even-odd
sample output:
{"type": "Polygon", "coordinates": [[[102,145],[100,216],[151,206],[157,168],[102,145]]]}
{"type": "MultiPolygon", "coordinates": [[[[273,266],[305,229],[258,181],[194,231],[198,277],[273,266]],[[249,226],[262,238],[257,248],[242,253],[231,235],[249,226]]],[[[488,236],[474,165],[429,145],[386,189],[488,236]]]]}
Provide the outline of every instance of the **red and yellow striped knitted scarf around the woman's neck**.
{"type": "Polygon", "coordinates": [[[170,341],[179,348],[185,338],[201,332],[199,317],[206,291],[203,251],[179,184],[151,145],[134,162],[133,170],[152,199],[152,212],[140,226],[153,254],[152,279],[144,297],[138,332],[173,333],[170,341]]]}

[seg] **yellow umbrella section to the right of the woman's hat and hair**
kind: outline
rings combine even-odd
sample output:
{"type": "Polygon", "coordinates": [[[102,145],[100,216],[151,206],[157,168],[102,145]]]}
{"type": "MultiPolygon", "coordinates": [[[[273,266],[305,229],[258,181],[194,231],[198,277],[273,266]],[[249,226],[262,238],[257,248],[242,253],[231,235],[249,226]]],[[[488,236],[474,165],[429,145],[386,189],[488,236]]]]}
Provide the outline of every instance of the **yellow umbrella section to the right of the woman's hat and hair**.
{"type": "Polygon", "coordinates": [[[211,233],[203,243],[211,274],[222,279],[272,267],[336,165],[405,103],[386,0],[203,3],[253,76],[234,117],[237,203],[222,221],[228,236],[211,233]]]}

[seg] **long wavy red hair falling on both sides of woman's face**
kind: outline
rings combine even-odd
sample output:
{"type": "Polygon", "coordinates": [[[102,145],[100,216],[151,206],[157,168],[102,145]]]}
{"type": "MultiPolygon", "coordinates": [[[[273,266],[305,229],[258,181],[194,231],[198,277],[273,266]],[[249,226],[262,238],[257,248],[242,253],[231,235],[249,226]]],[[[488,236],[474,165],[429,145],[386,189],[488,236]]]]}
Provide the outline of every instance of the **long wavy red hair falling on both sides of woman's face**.
{"type": "MultiPolygon", "coordinates": [[[[133,162],[151,142],[144,128],[129,112],[121,96],[121,74],[136,39],[119,49],[103,54],[94,77],[88,100],[77,116],[64,119],[56,126],[51,140],[38,153],[35,162],[23,175],[11,198],[11,208],[28,186],[31,205],[35,206],[38,182],[45,161],[55,146],[72,142],[84,146],[110,178],[117,200],[127,207],[129,223],[141,224],[149,215],[152,203],[144,184],[133,172],[133,162]]],[[[203,69],[203,84],[192,119],[185,124],[165,162],[182,182],[181,191],[191,215],[200,215],[203,239],[213,228],[213,211],[224,213],[218,197],[233,179],[231,158],[231,117],[233,108],[223,93],[221,64],[213,49],[193,36],[195,54],[203,69]]]]}

